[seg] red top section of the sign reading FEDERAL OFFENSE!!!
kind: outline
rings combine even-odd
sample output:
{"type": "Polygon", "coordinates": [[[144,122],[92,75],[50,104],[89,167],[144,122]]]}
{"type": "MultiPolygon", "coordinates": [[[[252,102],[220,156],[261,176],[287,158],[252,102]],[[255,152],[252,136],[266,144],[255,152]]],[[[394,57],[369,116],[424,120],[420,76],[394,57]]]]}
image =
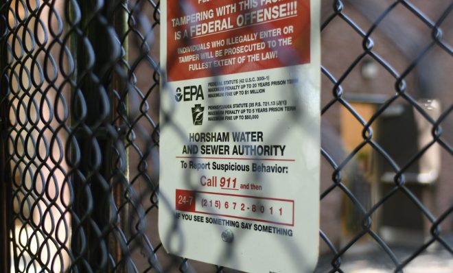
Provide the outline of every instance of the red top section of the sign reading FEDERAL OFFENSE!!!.
{"type": "Polygon", "coordinates": [[[169,82],[310,62],[310,0],[167,5],[169,82]]]}

